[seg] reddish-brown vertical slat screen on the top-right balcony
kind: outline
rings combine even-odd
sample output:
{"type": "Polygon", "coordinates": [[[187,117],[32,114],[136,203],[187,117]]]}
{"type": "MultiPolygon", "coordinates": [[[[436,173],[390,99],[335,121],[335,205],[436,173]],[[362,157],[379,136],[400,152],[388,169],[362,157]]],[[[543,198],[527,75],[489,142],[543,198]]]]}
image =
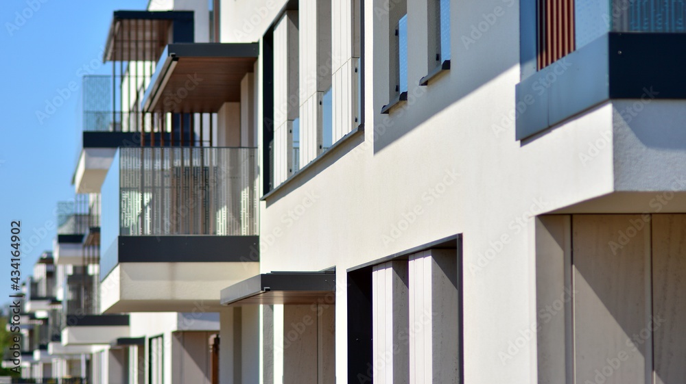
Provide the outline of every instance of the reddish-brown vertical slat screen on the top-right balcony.
{"type": "Polygon", "coordinates": [[[574,51],[574,0],[538,0],[539,70],[574,51]]]}

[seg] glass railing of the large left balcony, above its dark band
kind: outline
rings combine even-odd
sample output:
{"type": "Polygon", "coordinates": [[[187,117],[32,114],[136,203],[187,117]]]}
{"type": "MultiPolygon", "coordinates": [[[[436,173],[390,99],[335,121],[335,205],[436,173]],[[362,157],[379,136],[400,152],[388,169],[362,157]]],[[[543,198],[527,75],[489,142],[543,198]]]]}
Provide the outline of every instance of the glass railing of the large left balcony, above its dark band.
{"type": "Polygon", "coordinates": [[[117,161],[103,220],[118,235],[257,235],[257,149],[120,148],[117,161]]]}

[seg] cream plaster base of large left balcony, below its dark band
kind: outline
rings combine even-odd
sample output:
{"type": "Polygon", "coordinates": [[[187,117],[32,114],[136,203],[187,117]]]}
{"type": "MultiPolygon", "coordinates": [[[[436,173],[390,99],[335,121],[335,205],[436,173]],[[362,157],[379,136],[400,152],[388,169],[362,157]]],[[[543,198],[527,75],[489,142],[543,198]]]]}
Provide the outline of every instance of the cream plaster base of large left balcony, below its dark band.
{"type": "Polygon", "coordinates": [[[259,273],[259,262],[120,262],[102,281],[104,313],[212,312],[220,291],[259,273]]]}

